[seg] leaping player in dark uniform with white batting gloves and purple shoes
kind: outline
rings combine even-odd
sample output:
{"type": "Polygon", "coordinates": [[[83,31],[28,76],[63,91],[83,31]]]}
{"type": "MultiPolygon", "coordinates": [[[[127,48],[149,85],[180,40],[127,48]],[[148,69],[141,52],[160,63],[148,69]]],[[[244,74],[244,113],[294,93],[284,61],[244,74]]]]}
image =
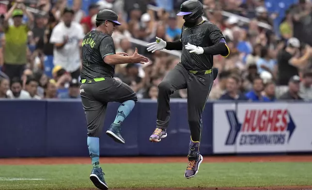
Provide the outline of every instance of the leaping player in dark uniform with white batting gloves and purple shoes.
{"type": "Polygon", "coordinates": [[[158,85],[158,109],[156,129],[150,137],[151,142],[159,142],[167,137],[166,129],[170,120],[170,95],[174,91],[187,88],[188,125],[191,132],[186,178],[195,176],[203,161],[199,154],[202,128],[202,113],[217,77],[217,68],[213,68],[213,55],[227,57],[230,53],[222,32],[216,25],[204,21],[203,4],[198,0],[182,3],[181,12],[185,23],[181,39],[165,42],[156,37],[156,42],[148,44],[148,51],[155,52],[166,48],[182,50],[181,63],[178,63],[158,85]]]}

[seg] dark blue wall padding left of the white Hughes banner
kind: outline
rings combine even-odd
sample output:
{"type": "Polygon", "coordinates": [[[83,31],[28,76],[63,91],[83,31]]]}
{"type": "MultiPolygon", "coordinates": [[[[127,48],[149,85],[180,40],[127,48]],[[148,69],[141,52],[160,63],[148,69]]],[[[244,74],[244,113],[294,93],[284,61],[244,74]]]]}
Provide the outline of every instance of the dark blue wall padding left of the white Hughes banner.
{"type": "MultiPolygon", "coordinates": [[[[150,143],[155,129],[155,101],[137,102],[123,123],[125,144],[115,143],[105,134],[114,121],[119,103],[107,109],[100,154],[107,156],[186,155],[190,132],[187,103],[171,103],[172,118],[169,137],[161,143],[150,143]],[[153,151],[153,150],[161,151],[153,151]]],[[[203,113],[203,154],[212,153],[212,104],[203,113]]],[[[88,156],[87,127],[80,100],[23,101],[0,100],[0,158],[88,156]]]]}

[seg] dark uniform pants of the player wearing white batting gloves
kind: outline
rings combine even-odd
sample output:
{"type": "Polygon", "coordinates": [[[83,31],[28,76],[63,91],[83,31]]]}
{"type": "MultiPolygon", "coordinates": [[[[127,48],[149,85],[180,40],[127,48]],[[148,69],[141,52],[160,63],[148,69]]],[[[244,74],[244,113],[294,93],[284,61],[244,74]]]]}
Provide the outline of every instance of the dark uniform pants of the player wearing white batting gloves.
{"type": "Polygon", "coordinates": [[[213,81],[211,70],[187,71],[181,63],[178,63],[158,85],[157,127],[168,127],[170,95],[176,90],[187,88],[187,117],[191,138],[194,142],[200,141],[202,113],[213,81]]]}

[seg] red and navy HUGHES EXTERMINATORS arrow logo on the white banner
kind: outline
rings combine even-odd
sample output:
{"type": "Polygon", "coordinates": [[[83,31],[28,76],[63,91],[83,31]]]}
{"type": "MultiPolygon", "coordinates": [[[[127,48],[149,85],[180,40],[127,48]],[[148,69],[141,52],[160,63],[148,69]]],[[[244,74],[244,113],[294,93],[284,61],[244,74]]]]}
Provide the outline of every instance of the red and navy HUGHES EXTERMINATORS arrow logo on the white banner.
{"type": "Polygon", "coordinates": [[[226,114],[231,128],[225,143],[229,145],[236,143],[238,134],[240,145],[284,144],[295,129],[287,110],[246,109],[242,123],[235,111],[226,111],[226,114]]]}

